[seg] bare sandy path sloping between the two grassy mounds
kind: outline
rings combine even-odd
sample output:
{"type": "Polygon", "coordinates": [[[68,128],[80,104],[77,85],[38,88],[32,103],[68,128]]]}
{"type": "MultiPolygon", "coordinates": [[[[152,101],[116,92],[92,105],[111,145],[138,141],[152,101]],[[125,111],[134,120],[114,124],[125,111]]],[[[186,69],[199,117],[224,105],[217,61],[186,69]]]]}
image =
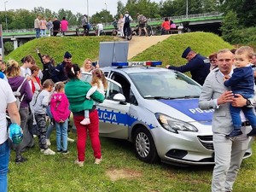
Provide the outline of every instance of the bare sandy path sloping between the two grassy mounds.
{"type": "Polygon", "coordinates": [[[148,49],[152,45],[157,44],[160,41],[163,41],[169,37],[170,35],[150,36],[150,37],[133,36],[131,41],[129,42],[128,60],[134,57],[135,55],[143,52],[145,49],[148,49]]]}

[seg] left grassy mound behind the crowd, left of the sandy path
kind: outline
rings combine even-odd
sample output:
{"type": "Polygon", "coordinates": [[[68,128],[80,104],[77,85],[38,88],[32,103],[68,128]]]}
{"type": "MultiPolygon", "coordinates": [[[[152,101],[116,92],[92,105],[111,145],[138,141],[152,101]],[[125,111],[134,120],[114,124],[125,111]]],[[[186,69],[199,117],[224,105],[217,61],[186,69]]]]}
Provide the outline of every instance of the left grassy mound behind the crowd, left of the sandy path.
{"type": "Polygon", "coordinates": [[[53,57],[56,64],[63,61],[63,55],[68,51],[73,55],[73,63],[82,65],[84,59],[88,57],[92,60],[98,58],[100,42],[117,40],[119,38],[112,36],[36,38],[12,51],[7,55],[7,60],[15,59],[15,61],[20,61],[25,55],[33,55],[40,67],[42,64],[36,53],[36,49],[39,49],[41,54],[48,54],[53,57]]]}

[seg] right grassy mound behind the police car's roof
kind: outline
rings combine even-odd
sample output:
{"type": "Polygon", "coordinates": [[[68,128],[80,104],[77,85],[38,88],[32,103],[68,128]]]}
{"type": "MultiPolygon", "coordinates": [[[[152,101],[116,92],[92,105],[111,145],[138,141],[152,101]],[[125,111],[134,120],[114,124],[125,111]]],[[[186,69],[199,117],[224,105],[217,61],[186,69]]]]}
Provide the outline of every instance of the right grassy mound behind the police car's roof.
{"type": "Polygon", "coordinates": [[[163,61],[163,66],[167,64],[174,66],[183,65],[186,60],[181,57],[183,50],[188,46],[196,53],[208,56],[218,49],[232,49],[232,46],[218,35],[209,32],[189,32],[171,36],[166,40],[155,44],[143,51],[143,53],[133,57],[131,61],[163,61]]]}

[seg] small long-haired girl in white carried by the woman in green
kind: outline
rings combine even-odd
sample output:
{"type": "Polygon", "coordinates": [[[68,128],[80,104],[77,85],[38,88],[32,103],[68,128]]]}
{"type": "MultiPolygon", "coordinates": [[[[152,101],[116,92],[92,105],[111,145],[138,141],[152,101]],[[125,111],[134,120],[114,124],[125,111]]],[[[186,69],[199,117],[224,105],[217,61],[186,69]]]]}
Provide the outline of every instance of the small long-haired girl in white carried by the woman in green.
{"type": "MultiPolygon", "coordinates": [[[[90,90],[88,90],[86,94],[86,98],[89,100],[90,100],[90,96],[96,90],[102,93],[102,95],[105,95],[105,90],[107,90],[108,88],[108,82],[101,69],[96,68],[91,73],[92,73],[92,79],[90,84],[92,85],[92,87],[90,88],[90,90]]],[[[84,110],[84,119],[80,122],[80,124],[82,125],[90,124],[89,110],[84,110]]]]}

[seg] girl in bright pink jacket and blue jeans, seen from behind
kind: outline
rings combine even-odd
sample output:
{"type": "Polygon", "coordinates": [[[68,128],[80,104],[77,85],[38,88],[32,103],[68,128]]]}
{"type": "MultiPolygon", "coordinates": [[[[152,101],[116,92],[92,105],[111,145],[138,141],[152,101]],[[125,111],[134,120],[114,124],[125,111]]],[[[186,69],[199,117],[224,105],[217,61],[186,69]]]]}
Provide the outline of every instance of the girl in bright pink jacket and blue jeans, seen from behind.
{"type": "Polygon", "coordinates": [[[55,119],[57,152],[68,154],[67,151],[67,121],[69,116],[69,102],[64,93],[65,84],[55,84],[55,93],[51,97],[50,111],[55,119]],[[62,141],[62,145],[61,145],[62,141]]]}

